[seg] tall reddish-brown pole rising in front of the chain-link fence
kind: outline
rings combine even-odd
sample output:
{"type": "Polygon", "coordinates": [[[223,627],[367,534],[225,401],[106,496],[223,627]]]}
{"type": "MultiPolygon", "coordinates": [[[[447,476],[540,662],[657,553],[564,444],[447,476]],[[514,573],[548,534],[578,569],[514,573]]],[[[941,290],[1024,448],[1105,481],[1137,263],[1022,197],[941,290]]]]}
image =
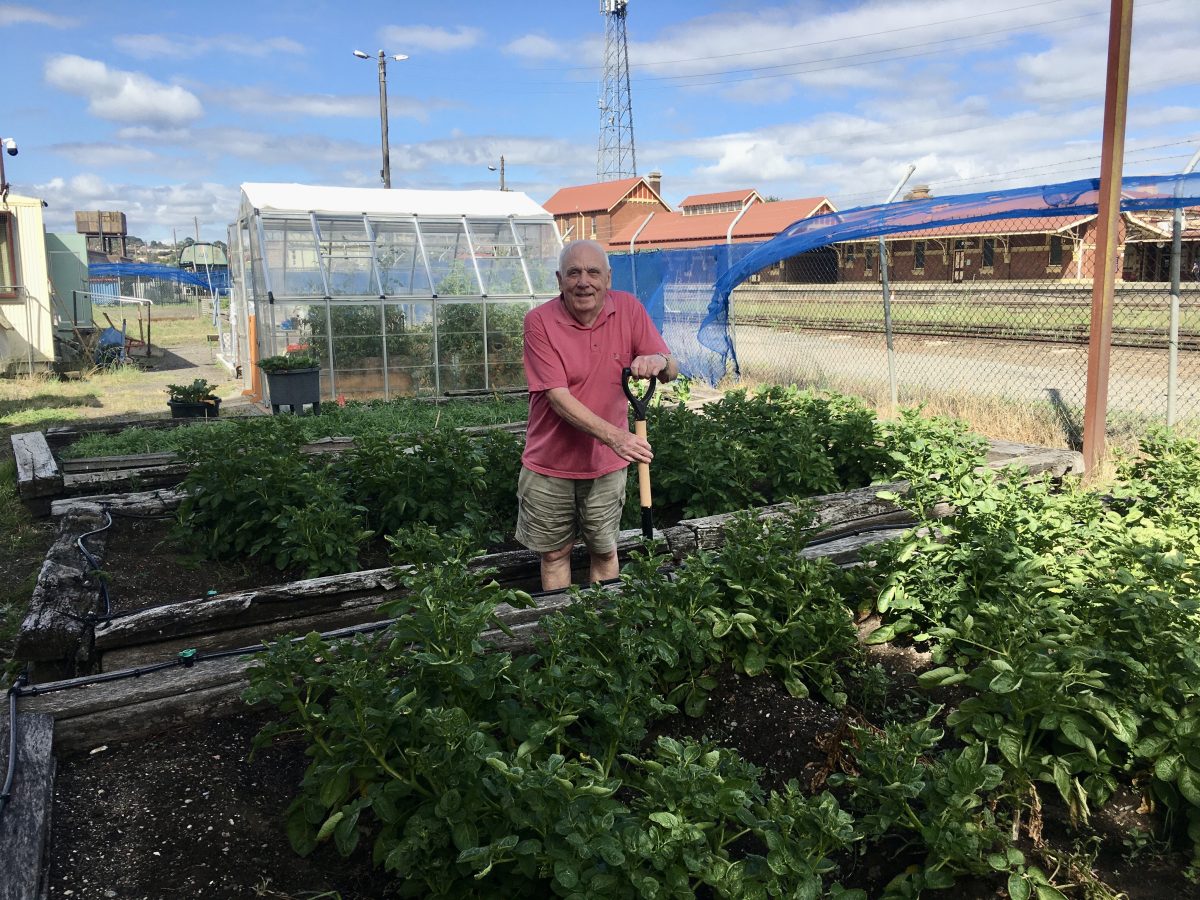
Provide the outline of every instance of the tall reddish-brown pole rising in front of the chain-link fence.
{"type": "Polygon", "coordinates": [[[1129,44],[1133,0],[1111,0],[1109,65],[1104,90],[1104,136],[1100,149],[1100,197],[1092,272],[1092,326],[1087,342],[1087,388],[1084,400],[1084,462],[1094,473],[1104,457],[1112,352],[1112,290],[1116,283],[1117,229],[1121,216],[1121,168],[1124,161],[1126,107],[1129,100],[1129,44]]]}

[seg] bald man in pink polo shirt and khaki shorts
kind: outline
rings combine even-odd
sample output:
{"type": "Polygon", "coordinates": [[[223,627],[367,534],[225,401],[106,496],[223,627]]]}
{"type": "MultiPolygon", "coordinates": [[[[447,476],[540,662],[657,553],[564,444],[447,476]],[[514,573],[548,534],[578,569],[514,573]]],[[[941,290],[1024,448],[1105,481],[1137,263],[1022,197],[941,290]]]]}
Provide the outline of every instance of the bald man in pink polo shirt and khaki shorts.
{"type": "Polygon", "coordinates": [[[590,581],[617,577],[626,467],[654,456],[629,430],[620,373],[628,366],[662,383],[679,374],[637,298],[610,289],[604,247],[568,244],[556,275],[562,293],[524,319],[529,428],[517,486],[516,536],[541,554],[544,590],[571,583],[577,535],[590,581]]]}

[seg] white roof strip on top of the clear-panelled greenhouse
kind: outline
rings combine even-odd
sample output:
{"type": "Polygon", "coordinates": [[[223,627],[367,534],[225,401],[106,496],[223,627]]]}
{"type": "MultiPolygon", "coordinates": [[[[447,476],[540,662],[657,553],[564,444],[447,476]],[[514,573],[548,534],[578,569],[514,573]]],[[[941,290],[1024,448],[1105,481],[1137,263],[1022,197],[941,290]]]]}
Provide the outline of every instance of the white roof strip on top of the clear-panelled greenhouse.
{"type": "Polygon", "coordinates": [[[259,212],[553,218],[520,191],[408,191],[254,182],[242,185],[241,193],[245,205],[259,212]]]}

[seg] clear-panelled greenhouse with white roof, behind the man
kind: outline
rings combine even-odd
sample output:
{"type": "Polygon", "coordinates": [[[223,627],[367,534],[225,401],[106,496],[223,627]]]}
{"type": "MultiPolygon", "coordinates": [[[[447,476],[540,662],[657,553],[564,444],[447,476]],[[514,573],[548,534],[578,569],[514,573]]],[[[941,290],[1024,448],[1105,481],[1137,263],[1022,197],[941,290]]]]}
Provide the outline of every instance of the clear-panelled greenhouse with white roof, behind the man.
{"type": "Polygon", "coordinates": [[[521,389],[560,246],[517,192],[242,185],[227,359],[259,397],[254,361],[301,350],[325,400],[521,389]]]}

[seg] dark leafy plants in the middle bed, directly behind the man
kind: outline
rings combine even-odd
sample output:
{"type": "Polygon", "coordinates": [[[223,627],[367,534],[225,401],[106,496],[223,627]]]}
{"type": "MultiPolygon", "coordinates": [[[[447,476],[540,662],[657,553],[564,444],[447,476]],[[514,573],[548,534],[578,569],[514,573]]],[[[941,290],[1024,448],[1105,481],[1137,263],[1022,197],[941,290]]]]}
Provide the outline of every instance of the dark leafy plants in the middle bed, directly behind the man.
{"type": "MultiPolygon", "coordinates": [[[[967,440],[916,414],[882,424],[858,401],[785,388],[733,392],[703,415],[682,403],[654,407],[648,419],[660,523],[859,487],[888,474],[893,450],[935,436],[967,440]]],[[[180,521],[197,550],[320,575],[353,570],[368,539],[418,522],[466,530],[484,546],[511,538],[520,437],[376,430],[341,454],[302,454],[307,427],[280,416],[266,428],[194,430],[181,451],[194,468],[180,521]]],[[[626,527],[637,509],[636,499],[626,504],[626,527]]]]}

